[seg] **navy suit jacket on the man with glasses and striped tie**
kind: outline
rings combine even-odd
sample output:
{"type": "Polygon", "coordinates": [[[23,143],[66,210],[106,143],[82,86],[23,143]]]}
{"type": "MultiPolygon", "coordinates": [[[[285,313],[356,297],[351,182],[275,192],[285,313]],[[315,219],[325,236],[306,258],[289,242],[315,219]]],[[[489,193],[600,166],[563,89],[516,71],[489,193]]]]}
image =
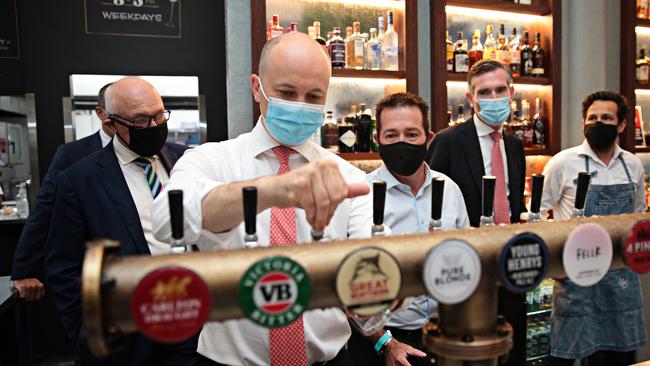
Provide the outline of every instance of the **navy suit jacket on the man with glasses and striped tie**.
{"type": "MultiPolygon", "coordinates": [[[[165,144],[159,156],[169,172],[186,146],[165,144]]],[[[135,202],[111,142],[61,172],[47,239],[48,289],[75,342],[81,330],[81,269],[86,242],[121,243],[118,255],[149,255],[135,202]]]]}

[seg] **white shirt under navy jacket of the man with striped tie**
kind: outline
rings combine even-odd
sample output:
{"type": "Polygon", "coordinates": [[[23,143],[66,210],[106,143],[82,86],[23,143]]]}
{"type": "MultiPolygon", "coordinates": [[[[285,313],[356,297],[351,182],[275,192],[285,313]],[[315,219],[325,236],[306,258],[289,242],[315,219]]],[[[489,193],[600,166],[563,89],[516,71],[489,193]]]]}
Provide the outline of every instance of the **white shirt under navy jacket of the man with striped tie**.
{"type": "MultiPolygon", "coordinates": [[[[151,208],[153,205],[153,196],[151,195],[151,189],[147,183],[147,177],[144,175],[144,169],[134,161],[139,157],[139,155],[126,147],[119,137],[113,139],[113,149],[115,150],[115,155],[120,163],[120,169],[122,169],[126,185],[129,187],[129,191],[131,192],[131,197],[133,197],[133,202],[135,202],[135,207],[138,210],[144,238],[147,240],[151,255],[170,253],[171,246],[167,243],[156,240],[151,229],[151,208]]],[[[154,171],[158,175],[158,179],[160,179],[160,184],[164,187],[169,180],[169,177],[165,167],[162,165],[160,158],[157,155],[154,156],[152,165],[154,171]]],[[[159,196],[165,195],[163,193],[164,191],[161,191],[159,196]]],[[[167,216],[169,216],[169,212],[167,213],[167,216]]]]}

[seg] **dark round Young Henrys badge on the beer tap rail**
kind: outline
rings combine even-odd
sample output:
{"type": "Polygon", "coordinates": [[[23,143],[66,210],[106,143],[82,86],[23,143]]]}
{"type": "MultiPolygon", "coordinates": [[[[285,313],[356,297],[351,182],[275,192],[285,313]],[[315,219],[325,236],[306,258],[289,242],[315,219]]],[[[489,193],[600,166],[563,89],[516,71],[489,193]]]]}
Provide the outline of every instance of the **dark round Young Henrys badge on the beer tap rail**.
{"type": "Polygon", "coordinates": [[[533,233],[515,235],[499,255],[499,277],[516,293],[532,290],[546,277],[549,265],[546,243],[533,233]]]}

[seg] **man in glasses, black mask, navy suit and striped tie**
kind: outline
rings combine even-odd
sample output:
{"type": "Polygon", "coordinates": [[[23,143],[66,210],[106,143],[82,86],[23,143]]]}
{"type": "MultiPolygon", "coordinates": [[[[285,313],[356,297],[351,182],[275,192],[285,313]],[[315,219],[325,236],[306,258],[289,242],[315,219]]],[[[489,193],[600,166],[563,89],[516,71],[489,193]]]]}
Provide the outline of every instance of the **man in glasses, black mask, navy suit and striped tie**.
{"type": "Polygon", "coordinates": [[[83,364],[194,364],[196,337],[160,344],[137,333],[103,359],[86,348],[82,331],[81,270],[86,242],[112,239],[118,255],[159,255],[171,247],[153,237],[151,205],[185,147],[165,144],[170,112],[158,92],[139,78],[124,78],[106,91],[103,124],[115,138],[105,148],[61,172],[47,240],[48,290],[83,364]]]}

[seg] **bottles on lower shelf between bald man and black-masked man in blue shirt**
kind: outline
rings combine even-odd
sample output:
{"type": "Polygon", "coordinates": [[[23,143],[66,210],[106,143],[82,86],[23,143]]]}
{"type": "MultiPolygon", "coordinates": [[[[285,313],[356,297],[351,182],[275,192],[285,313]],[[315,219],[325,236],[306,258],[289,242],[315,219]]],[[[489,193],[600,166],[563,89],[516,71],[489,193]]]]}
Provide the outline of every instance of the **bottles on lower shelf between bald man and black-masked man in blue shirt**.
{"type": "Polygon", "coordinates": [[[320,136],[314,136],[314,142],[338,153],[377,152],[379,149],[373,138],[375,130],[372,110],[361,103],[353,105],[349,114],[338,118],[333,111],[325,112],[320,136]]]}

